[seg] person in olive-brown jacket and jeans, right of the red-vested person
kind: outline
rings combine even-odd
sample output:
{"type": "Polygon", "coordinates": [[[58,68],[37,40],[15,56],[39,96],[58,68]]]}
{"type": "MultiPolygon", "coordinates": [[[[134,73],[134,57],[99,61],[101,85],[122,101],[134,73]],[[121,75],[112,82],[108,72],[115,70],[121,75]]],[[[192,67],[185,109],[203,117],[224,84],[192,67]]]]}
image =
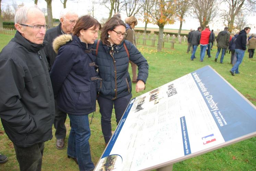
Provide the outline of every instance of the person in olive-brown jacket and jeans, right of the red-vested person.
{"type": "Polygon", "coordinates": [[[220,57],[220,63],[222,64],[225,52],[229,46],[229,41],[230,41],[230,33],[228,31],[228,27],[225,27],[223,31],[219,32],[216,40],[217,40],[218,51],[216,53],[214,61],[217,62],[218,56],[220,54],[220,50],[222,50],[221,57],[220,57]]]}

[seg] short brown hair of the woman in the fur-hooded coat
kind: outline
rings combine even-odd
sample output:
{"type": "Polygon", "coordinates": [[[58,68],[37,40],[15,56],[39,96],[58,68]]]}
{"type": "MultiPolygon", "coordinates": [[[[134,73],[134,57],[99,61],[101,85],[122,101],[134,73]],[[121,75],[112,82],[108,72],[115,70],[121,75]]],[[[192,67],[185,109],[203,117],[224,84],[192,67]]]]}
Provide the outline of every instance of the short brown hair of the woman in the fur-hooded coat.
{"type": "Polygon", "coordinates": [[[100,23],[97,19],[89,16],[83,15],[78,18],[74,28],[73,28],[73,35],[80,36],[80,30],[87,30],[90,27],[93,27],[93,30],[99,26],[99,30],[101,29],[100,23]]]}

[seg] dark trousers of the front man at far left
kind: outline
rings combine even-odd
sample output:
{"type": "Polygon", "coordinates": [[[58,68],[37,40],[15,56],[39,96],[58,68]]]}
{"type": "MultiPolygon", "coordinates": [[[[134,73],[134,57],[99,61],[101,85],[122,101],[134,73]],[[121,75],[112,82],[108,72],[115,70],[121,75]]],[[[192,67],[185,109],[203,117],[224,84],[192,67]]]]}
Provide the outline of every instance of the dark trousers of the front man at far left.
{"type": "Polygon", "coordinates": [[[16,158],[21,171],[40,171],[45,143],[35,144],[31,147],[18,147],[13,144],[16,158]]]}

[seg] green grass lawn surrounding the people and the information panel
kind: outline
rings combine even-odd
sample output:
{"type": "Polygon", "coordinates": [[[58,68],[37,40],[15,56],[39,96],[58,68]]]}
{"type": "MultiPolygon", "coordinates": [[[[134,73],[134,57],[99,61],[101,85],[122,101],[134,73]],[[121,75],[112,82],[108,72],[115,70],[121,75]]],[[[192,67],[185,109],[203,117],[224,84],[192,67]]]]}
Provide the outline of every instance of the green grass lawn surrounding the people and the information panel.
{"type": "MultiPolygon", "coordinates": [[[[13,36],[0,35],[0,49],[2,49],[12,37],[13,36]]],[[[147,44],[151,44],[151,41],[148,41],[147,44]]],[[[206,56],[204,62],[199,61],[199,47],[196,53],[197,58],[194,61],[190,61],[191,54],[186,53],[186,42],[182,42],[182,44],[176,43],[174,45],[174,50],[170,49],[170,43],[165,43],[164,47],[166,48],[163,48],[162,52],[158,53],[156,47],[138,45],[138,49],[148,60],[149,77],[146,83],[146,90],[143,92],[136,93],[135,84],[133,84],[133,97],[155,89],[185,74],[191,73],[196,69],[210,65],[249,101],[256,105],[256,56],[254,56],[253,59],[249,59],[248,53],[246,52],[243,63],[240,65],[241,74],[231,76],[229,73],[229,70],[231,69],[230,54],[225,55],[223,64],[219,63],[219,55],[218,62],[216,63],[214,61],[217,51],[216,46],[214,46],[214,49],[211,51],[212,57],[208,58],[206,56]]],[[[131,71],[131,67],[129,70],[131,71]]],[[[216,86],[218,86],[218,83],[216,83],[216,86]]],[[[115,130],[116,123],[114,120],[114,113],[112,113],[112,115],[112,130],[115,130]]],[[[89,115],[89,118],[91,117],[92,114],[89,115]]],[[[66,120],[66,127],[68,131],[65,148],[63,150],[58,150],[55,147],[55,137],[45,143],[42,170],[78,170],[76,163],[73,160],[68,159],[66,155],[67,138],[70,130],[69,118],[66,120]]],[[[105,142],[101,133],[98,106],[92,124],[90,125],[90,129],[91,154],[92,160],[96,165],[105,148],[105,142]]],[[[13,145],[4,133],[1,124],[0,131],[0,152],[9,157],[8,162],[0,165],[0,170],[18,170],[19,165],[16,160],[13,145]]],[[[53,128],[53,133],[54,132],[55,129],[53,128]]],[[[253,137],[213,152],[175,163],[173,170],[256,170],[255,154],[256,137],[253,137]]]]}

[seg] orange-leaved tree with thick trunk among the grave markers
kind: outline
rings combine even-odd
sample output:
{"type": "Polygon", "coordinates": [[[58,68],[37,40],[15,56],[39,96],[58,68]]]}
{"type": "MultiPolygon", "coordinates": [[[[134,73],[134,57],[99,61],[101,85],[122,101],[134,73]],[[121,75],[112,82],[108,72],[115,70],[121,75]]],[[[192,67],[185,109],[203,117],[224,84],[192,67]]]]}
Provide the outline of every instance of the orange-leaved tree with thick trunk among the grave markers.
{"type": "Polygon", "coordinates": [[[173,24],[176,12],[176,0],[154,0],[154,7],[149,12],[153,19],[153,24],[159,27],[157,51],[162,50],[163,27],[166,24],[173,24]]]}

